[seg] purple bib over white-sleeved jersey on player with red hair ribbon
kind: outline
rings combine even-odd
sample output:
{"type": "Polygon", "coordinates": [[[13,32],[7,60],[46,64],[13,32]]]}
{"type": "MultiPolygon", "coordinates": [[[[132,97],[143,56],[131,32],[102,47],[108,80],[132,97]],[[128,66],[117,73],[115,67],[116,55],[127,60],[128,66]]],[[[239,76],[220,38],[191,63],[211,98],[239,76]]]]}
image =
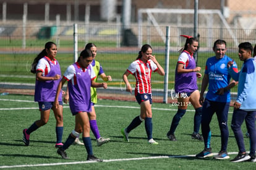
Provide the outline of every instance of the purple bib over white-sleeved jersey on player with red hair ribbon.
{"type": "MultiPolygon", "coordinates": [[[[179,56],[177,64],[184,64],[184,69],[195,69],[195,59],[187,51],[183,51],[179,56]]],[[[177,66],[175,72],[175,92],[189,93],[197,90],[197,74],[196,72],[187,72],[177,74],[177,66]]]]}

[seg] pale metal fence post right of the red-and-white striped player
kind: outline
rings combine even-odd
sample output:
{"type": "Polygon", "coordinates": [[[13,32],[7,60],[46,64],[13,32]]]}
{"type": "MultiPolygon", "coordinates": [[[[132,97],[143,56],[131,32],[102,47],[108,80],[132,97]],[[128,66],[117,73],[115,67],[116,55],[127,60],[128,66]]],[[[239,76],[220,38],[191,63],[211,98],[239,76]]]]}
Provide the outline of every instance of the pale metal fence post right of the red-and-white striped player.
{"type": "Polygon", "coordinates": [[[165,63],[164,63],[164,98],[163,103],[168,103],[168,79],[169,79],[169,47],[170,47],[170,27],[166,27],[165,38],[165,63]]]}

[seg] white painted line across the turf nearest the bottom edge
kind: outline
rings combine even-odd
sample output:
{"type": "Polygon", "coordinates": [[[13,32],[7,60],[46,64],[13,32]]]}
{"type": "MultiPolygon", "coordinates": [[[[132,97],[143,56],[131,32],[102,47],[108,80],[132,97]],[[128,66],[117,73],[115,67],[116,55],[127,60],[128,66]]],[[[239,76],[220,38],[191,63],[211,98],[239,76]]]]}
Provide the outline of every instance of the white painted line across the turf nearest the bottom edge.
{"type": "MultiPolygon", "coordinates": [[[[213,155],[217,155],[217,154],[218,153],[213,153],[213,155]]],[[[237,152],[229,152],[228,154],[237,155],[237,152]]],[[[143,159],[187,158],[187,157],[195,157],[195,155],[171,155],[171,156],[150,156],[150,157],[142,157],[142,158],[104,159],[103,163],[117,162],[117,161],[137,161],[137,160],[143,160],[143,159]]],[[[0,166],[0,168],[23,168],[23,167],[57,166],[57,165],[66,165],[66,164],[87,164],[87,163],[97,163],[97,162],[75,161],[75,162],[68,162],[68,163],[20,164],[20,165],[12,165],[12,166],[0,166]]]]}

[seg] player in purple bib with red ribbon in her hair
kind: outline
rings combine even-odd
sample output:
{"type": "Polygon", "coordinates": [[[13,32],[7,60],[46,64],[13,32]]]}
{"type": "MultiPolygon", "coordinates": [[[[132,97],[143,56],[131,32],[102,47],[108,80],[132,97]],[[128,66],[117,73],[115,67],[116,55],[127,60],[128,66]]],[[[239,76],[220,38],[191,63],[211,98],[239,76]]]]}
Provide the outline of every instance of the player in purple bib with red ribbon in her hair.
{"type": "Polygon", "coordinates": [[[193,54],[197,51],[198,41],[192,36],[181,35],[187,38],[184,48],[181,49],[179,56],[176,74],[175,74],[175,92],[177,98],[177,113],[173,117],[171,127],[167,133],[167,137],[171,141],[176,141],[174,132],[181,120],[182,116],[186,113],[187,106],[192,105],[195,108],[194,116],[194,132],[192,138],[202,140],[202,136],[198,133],[201,124],[202,117],[202,105],[199,103],[200,93],[197,87],[197,77],[202,77],[202,74],[198,73],[201,67],[197,67],[193,54]]]}

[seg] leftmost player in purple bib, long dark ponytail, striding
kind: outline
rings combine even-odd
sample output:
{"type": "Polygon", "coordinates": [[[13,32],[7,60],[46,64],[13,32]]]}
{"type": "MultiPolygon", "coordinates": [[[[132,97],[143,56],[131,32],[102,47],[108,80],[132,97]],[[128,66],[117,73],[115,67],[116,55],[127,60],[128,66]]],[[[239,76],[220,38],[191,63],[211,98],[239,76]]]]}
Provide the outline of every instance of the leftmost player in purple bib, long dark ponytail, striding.
{"type": "Polygon", "coordinates": [[[62,147],[63,134],[63,116],[62,116],[62,94],[58,95],[59,108],[53,107],[56,96],[56,89],[61,78],[61,69],[59,62],[55,59],[57,46],[53,42],[45,44],[45,49],[34,59],[31,72],[36,74],[35,101],[38,101],[41,117],[35,121],[28,129],[23,129],[23,142],[26,146],[30,143],[30,134],[45,125],[49,120],[50,109],[56,119],[56,137],[55,147],[62,147]]]}

